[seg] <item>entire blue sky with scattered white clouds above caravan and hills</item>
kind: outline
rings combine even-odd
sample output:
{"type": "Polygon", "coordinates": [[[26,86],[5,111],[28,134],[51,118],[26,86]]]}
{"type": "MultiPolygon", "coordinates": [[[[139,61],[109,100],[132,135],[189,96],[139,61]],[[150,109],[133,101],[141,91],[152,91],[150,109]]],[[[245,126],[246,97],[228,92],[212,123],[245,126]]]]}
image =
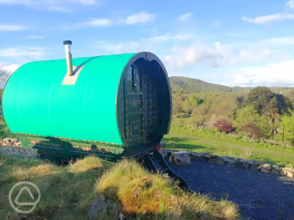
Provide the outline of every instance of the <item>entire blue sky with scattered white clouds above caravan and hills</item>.
{"type": "Polygon", "coordinates": [[[294,86],[294,0],[0,0],[0,64],[150,51],[169,76],[294,86]]]}

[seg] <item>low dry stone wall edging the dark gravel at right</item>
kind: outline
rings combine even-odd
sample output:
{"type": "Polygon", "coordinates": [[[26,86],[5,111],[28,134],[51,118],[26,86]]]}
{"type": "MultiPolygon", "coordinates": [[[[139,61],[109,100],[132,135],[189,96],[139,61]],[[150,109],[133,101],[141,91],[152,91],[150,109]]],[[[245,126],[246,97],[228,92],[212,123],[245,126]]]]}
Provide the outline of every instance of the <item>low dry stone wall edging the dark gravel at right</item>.
{"type": "MultiPolygon", "coordinates": [[[[167,150],[167,156],[171,157],[172,152],[178,150],[167,150]]],[[[278,165],[261,163],[257,160],[245,160],[243,158],[229,157],[229,156],[218,156],[209,153],[190,153],[191,160],[203,161],[206,163],[215,163],[219,165],[225,165],[227,167],[238,167],[246,170],[255,170],[264,173],[270,173],[273,175],[294,177],[294,168],[279,167],[278,165]]]]}

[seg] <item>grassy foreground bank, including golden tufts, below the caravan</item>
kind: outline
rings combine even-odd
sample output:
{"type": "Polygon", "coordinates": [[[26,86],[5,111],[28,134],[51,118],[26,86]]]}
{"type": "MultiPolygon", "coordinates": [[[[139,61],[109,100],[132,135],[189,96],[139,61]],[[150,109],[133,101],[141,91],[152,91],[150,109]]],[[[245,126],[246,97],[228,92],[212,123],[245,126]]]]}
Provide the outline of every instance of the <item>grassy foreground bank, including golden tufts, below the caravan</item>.
{"type": "MultiPolygon", "coordinates": [[[[12,201],[21,187],[13,191],[12,201]]],[[[38,197],[36,190],[29,188],[38,197]]],[[[86,219],[91,202],[99,194],[106,197],[107,212],[95,219],[118,219],[120,212],[127,219],[138,220],[239,219],[238,207],[233,202],[183,192],[166,175],[150,174],[133,160],[111,163],[90,156],[67,166],[14,157],[0,161],[1,219],[86,219]],[[14,211],[8,201],[9,190],[19,181],[33,182],[41,191],[41,200],[29,214],[14,211]]],[[[23,193],[19,202],[34,200],[23,193]]],[[[16,207],[24,210],[24,206],[16,207]]]]}

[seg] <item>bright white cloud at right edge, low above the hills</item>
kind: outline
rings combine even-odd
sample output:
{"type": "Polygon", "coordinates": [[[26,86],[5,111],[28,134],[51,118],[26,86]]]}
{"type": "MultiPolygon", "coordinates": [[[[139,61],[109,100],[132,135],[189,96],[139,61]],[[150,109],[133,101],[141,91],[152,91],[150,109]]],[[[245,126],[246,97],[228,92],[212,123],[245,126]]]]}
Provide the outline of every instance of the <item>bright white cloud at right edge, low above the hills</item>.
{"type": "Polygon", "coordinates": [[[294,60],[268,63],[263,67],[235,68],[230,72],[233,86],[288,85],[294,83],[294,60]]]}

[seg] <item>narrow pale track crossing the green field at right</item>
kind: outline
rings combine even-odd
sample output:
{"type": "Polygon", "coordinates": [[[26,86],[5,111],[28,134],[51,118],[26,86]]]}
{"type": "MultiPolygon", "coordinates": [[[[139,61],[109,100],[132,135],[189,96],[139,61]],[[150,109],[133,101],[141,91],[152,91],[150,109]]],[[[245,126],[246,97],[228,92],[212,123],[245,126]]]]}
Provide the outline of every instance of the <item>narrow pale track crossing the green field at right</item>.
{"type": "MultiPolygon", "coordinates": [[[[205,144],[210,144],[210,145],[215,145],[215,146],[220,146],[220,147],[225,147],[225,148],[231,148],[231,149],[236,149],[236,150],[244,150],[245,149],[245,146],[242,146],[242,145],[230,144],[230,143],[226,143],[226,142],[222,142],[222,141],[214,141],[214,140],[210,140],[207,138],[199,138],[199,137],[194,137],[194,136],[180,134],[180,133],[174,133],[174,132],[169,132],[169,133],[173,137],[177,137],[177,138],[187,137],[187,138],[191,139],[192,141],[196,141],[198,143],[205,143],[205,144]],[[203,141],[199,141],[199,140],[203,140],[203,141]],[[211,142],[215,142],[215,143],[211,143],[211,142]],[[228,145],[231,145],[231,146],[228,146],[228,145]]],[[[256,153],[266,153],[269,155],[294,158],[294,154],[291,154],[291,153],[283,153],[283,152],[278,152],[278,151],[274,151],[274,150],[265,150],[265,149],[259,149],[259,148],[251,148],[251,149],[253,152],[256,152],[256,153]]]]}

